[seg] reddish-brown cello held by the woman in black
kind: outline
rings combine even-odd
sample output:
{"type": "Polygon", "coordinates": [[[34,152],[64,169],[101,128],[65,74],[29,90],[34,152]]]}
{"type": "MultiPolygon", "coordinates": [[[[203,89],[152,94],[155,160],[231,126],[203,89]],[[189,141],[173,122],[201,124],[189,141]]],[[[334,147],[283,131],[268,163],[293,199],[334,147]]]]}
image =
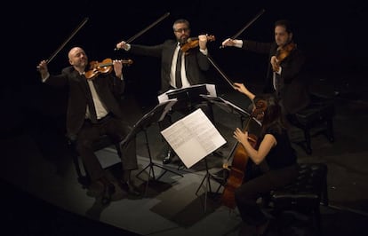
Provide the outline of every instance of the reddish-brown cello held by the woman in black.
{"type": "MultiPolygon", "coordinates": [[[[257,119],[259,121],[262,120],[266,108],[266,100],[260,99],[256,102],[255,109],[249,116],[248,121],[244,126],[243,132],[249,130],[250,123],[253,119],[257,119]]],[[[259,125],[258,122],[257,124],[259,125]]],[[[248,133],[248,139],[251,146],[255,148],[258,139],[257,136],[255,134],[248,133]]],[[[222,192],[221,203],[228,208],[236,208],[235,191],[244,182],[245,169],[250,159],[249,154],[246,153],[244,146],[239,142],[236,143],[233,152],[233,161],[231,167],[228,167],[228,164],[224,164],[223,166],[224,169],[229,170],[229,173],[227,183],[224,185],[224,191],[222,192]]]]}

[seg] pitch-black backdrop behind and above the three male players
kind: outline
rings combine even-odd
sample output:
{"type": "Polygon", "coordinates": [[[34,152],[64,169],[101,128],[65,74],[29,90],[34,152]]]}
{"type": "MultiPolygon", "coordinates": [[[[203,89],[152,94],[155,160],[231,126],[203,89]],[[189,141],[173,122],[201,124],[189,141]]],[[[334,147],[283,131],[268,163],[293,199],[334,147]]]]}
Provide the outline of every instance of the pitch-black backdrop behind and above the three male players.
{"type": "MultiPolygon", "coordinates": [[[[40,60],[55,55],[49,62],[49,70],[53,74],[60,73],[68,66],[68,51],[76,45],[84,48],[90,61],[133,59],[132,66],[124,69],[126,94],[132,94],[140,106],[156,103],[160,59],[128,55],[114,48],[116,43],[138,34],[165,12],[170,12],[170,16],[132,43],[163,43],[174,37],[173,21],[185,18],[191,22],[192,36],[215,36],[216,40],[208,43],[212,58],[234,81],[263,79],[266,75],[267,55],[236,48],[219,49],[224,39],[236,35],[261,9],[265,12],[239,37],[273,41],[273,23],[279,19],[292,20],[294,39],[307,54],[311,76],[329,76],[348,83],[350,78],[364,75],[367,65],[364,1],[228,1],[221,4],[210,0],[48,1],[10,5],[4,8],[10,11],[10,17],[3,20],[3,48],[10,52],[12,61],[12,67],[5,67],[12,69],[5,71],[5,75],[9,75],[4,78],[1,92],[4,111],[9,114],[3,117],[0,126],[5,135],[16,133],[26,123],[28,126],[29,122],[39,122],[40,119],[32,118],[34,116],[44,115],[46,119],[65,113],[64,91],[45,88],[36,66],[40,60]],[[60,48],[85,18],[88,21],[84,27],[60,48]],[[58,49],[60,51],[54,54],[58,49]]],[[[214,83],[226,84],[214,68],[212,72],[214,83]]],[[[359,79],[354,83],[359,83],[359,79]]]]}

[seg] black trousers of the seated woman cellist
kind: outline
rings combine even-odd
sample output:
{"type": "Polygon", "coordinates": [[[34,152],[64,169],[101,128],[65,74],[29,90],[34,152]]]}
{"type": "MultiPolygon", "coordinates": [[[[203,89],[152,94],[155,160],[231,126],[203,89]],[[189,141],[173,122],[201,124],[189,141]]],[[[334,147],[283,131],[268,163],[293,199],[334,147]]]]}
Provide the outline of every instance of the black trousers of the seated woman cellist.
{"type": "Polygon", "coordinates": [[[298,176],[297,165],[284,169],[269,170],[238,187],[235,192],[236,206],[247,224],[260,225],[267,221],[257,199],[277,188],[292,183],[298,176]]]}

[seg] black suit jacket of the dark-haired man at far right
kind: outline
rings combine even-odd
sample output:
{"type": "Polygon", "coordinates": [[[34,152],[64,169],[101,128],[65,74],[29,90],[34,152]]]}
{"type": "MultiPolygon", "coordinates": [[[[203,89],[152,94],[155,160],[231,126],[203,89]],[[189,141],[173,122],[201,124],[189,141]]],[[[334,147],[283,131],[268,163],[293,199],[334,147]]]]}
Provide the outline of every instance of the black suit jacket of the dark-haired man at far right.
{"type": "MultiPolygon", "coordinates": [[[[244,40],[243,49],[258,53],[268,53],[269,62],[271,57],[276,55],[277,44],[244,40]]],[[[280,79],[284,83],[284,86],[279,91],[279,98],[281,98],[287,114],[294,114],[309,104],[308,78],[304,73],[305,60],[302,51],[296,47],[280,63],[280,66],[283,68],[280,79]]],[[[264,91],[275,91],[273,87],[273,70],[270,62],[268,63],[264,91]]]]}

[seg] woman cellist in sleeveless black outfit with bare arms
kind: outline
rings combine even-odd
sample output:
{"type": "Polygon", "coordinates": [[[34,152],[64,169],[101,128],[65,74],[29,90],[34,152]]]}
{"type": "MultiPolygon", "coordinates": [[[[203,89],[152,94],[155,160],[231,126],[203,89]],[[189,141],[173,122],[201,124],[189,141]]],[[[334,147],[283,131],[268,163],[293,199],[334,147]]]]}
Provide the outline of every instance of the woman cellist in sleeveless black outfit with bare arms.
{"type": "Polygon", "coordinates": [[[243,83],[234,85],[236,90],[252,100],[252,116],[262,123],[256,141],[248,136],[247,130],[236,128],[234,131],[234,138],[244,147],[252,163],[262,166],[258,176],[245,179],[235,190],[236,207],[244,222],[239,235],[252,235],[249,234],[251,231],[256,235],[265,235],[269,219],[261,211],[257,200],[296,179],[297,156],[289,140],[284,115],[275,94],[255,96],[243,83]],[[255,146],[252,145],[254,143],[255,146]]]}

